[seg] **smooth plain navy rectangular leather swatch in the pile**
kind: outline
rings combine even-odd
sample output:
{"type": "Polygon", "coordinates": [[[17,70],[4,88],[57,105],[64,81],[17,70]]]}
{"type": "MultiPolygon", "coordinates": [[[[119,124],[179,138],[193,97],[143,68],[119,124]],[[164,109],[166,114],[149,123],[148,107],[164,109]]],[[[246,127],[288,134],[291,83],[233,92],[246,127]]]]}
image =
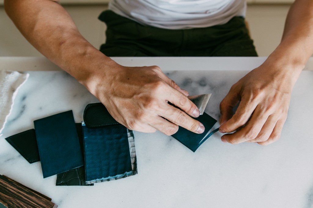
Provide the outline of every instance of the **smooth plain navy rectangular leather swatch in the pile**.
{"type": "Polygon", "coordinates": [[[44,178],[84,165],[72,111],[34,121],[44,178]]]}

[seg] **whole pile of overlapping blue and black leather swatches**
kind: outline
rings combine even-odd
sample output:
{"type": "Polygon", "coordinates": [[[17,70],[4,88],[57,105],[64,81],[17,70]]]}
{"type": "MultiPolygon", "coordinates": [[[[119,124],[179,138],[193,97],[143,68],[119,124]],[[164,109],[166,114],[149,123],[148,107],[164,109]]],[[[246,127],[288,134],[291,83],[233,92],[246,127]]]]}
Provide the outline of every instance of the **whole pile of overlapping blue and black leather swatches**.
{"type": "Polygon", "coordinates": [[[88,125],[75,124],[72,111],[62,112],[6,140],[29,163],[40,161],[44,178],[57,174],[57,186],[92,186],[137,174],[133,132],[101,103],[89,104],[84,120],[88,125]]]}

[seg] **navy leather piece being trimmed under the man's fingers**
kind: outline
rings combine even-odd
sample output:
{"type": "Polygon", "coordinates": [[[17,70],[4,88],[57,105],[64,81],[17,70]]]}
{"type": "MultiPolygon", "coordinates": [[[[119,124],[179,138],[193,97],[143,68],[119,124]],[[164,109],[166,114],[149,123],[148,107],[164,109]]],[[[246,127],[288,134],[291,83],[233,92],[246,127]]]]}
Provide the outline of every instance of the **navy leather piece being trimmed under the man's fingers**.
{"type": "Polygon", "coordinates": [[[202,134],[193,133],[179,126],[178,131],[173,134],[172,137],[180,141],[183,145],[187,146],[191,151],[195,152],[198,147],[208,138],[208,136],[205,136],[208,134],[208,131],[214,126],[216,120],[206,113],[203,113],[203,115],[193,119],[200,121],[205,127],[205,131],[202,134]]]}

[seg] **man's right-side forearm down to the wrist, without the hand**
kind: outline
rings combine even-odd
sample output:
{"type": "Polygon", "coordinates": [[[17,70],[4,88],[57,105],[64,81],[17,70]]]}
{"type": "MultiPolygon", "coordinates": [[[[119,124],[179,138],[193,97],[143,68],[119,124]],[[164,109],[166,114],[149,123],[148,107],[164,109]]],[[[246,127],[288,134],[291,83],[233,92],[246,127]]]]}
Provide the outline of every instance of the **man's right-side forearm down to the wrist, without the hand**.
{"type": "Polygon", "coordinates": [[[288,12],[280,45],[269,56],[269,62],[281,62],[297,73],[313,53],[313,1],[295,0],[288,12]]]}

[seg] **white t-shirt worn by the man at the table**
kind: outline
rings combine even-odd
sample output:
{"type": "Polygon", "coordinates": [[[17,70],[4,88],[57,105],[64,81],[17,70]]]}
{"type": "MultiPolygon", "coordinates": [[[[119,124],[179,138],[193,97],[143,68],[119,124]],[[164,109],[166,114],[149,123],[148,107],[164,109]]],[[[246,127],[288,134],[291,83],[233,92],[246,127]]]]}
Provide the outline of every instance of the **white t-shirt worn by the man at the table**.
{"type": "Polygon", "coordinates": [[[109,9],[142,24],[165,29],[210,27],[245,16],[245,0],[111,0],[109,9]]]}

